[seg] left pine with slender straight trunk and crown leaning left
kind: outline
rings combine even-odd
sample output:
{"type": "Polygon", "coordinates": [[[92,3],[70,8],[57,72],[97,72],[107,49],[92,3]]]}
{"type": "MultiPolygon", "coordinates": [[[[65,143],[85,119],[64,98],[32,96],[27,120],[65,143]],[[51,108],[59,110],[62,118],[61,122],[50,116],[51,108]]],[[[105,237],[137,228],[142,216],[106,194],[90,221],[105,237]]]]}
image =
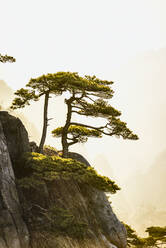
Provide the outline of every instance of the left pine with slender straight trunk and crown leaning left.
{"type": "Polygon", "coordinates": [[[44,96],[44,112],[43,112],[43,131],[39,144],[39,152],[43,152],[43,146],[46,139],[48,126],[48,102],[51,94],[62,94],[62,84],[57,80],[56,74],[47,74],[35,79],[31,79],[27,88],[21,88],[15,92],[17,97],[12,102],[12,109],[24,108],[30,105],[31,101],[38,101],[40,97],[44,96]]]}

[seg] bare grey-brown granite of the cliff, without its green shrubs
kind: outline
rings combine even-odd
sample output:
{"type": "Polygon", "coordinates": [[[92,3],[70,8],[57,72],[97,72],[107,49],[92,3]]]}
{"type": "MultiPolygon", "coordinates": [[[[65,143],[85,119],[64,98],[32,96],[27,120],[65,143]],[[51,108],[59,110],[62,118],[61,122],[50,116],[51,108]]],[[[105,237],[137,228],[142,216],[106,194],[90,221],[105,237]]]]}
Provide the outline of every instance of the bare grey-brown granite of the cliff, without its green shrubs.
{"type": "MultiPolygon", "coordinates": [[[[37,189],[17,191],[12,165],[17,166],[28,151],[28,134],[22,122],[0,111],[0,248],[126,248],[126,230],[102,191],[81,186],[74,179],[55,179],[37,189]],[[50,235],[46,216],[52,206],[87,223],[90,236],[77,240],[50,235]]],[[[90,166],[80,154],[69,157],[90,166]]]]}

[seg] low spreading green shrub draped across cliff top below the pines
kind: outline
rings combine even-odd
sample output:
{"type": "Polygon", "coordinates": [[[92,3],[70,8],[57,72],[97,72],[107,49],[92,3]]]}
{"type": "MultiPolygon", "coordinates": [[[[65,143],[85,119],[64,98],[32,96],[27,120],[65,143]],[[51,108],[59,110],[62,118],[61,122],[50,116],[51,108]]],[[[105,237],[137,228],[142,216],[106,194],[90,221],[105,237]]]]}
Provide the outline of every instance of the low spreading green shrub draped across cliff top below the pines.
{"type": "Polygon", "coordinates": [[[24,188],[38,188],[39,184],[55,179],[75,180],[99,190],[116,193],[120,188],[108,177],[100,176],[92,167],[87,167],[74,159],[58,156],[46,156],[39,153],[27,153],[19,168],[19,185],[24,188]]]}

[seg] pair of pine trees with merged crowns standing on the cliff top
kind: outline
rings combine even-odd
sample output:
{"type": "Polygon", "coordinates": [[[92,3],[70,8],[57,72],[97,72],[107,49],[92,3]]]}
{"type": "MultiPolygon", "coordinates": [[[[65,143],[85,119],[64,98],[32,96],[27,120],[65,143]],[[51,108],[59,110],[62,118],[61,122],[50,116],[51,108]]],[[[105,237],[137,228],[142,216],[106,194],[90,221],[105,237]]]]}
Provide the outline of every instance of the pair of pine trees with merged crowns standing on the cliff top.
{"type": "Polygon", "coordinates": [[[78,142],[86,142],[89,137],[100,138],[104,134],[124,139],[138,139],[137,135],[127,128],[126,123],[118,118],[121,115],[120,111],[113,108],[107,101],[113,97],[112,84],[112,81],[101,80],[95,76],[81,77],[76,72],[47,74],[31,79],[26,88],[16,91],[17,97],[13,100],[11,108],[24,108],[31,101],[38,101],[44,96],[43,132],[39,144],[39,152],[43,153],[49,120],[49,98],[51,95],[57,96],[67,92],[65,125],[52,132],[54,137],[61,137],[62,156],[67,158],[69,146],[78,142]],[[101,117],[104,122],[102,126],[72,122],[74,114],[101,117]]]}

